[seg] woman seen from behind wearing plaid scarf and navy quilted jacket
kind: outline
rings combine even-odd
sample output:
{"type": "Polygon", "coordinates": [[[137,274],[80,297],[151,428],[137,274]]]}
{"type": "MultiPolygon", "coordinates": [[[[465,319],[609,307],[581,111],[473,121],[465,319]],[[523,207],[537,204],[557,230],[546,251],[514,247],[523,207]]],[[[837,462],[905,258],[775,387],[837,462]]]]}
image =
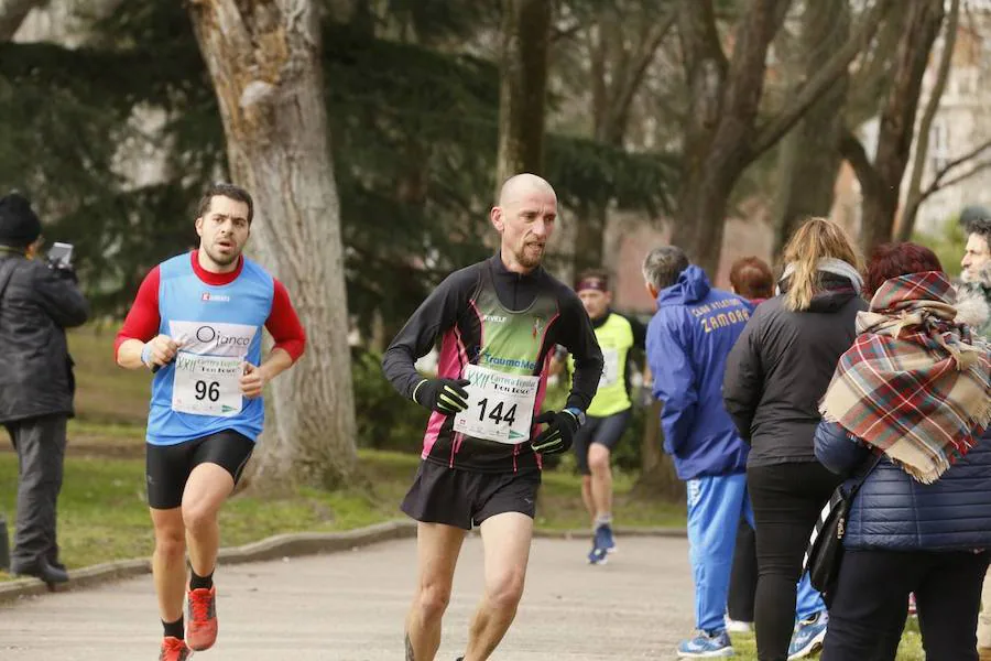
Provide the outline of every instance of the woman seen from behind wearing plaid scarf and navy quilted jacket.
{"type": "Polygon", "coordinates": [[[823,661],[894,659],[914,592],[927,661],[977,661],[991,549],[991,356],[954,319],[932,250],[880,247],[868,312],[821,403],[816,456],[849,476],[881,456],[853,500],[823,661]]]}

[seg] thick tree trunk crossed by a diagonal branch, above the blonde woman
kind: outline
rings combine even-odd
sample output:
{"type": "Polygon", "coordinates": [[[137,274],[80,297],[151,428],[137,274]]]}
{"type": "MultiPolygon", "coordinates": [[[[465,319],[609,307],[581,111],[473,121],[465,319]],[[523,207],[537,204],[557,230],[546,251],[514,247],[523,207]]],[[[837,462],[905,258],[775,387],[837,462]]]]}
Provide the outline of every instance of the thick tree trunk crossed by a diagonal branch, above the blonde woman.
{"type": "MultiPolygon", "coordinates": [[[[806,6],[802,15],[803,78],[815,75],[821,66],[821,53],[842,46],[849,31],[848,0],[819,0],[806,6]]],[[[778,161],[782,194],[774,219],[775,258],[781,256],[804,218],[828,216],[832,208],[836,175],[842,162],[839,139],[843,120],[838,109],[846,102],[849,77],[846,72],[841,74],[782,142],[778,161]]]]}

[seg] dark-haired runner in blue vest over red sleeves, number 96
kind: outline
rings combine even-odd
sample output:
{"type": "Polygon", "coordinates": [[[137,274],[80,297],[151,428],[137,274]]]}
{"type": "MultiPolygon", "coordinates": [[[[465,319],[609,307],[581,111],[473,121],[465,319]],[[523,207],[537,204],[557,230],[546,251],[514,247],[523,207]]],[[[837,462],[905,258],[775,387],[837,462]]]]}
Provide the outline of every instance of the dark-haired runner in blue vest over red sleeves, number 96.
{"type": "Polygon", "coordinates": [[[195,224],[199,248],[152,269],[117,336],[118,365],[155,372],[146,478],[164,628],[160,661],[185,661],[217,639],[217,513],[262,431],[265,383],[293,365],[306,342],[285,288],[241,256],[252,215],[247,191],[211,186],[195,224]],[[275,340],[264,360],[263,327],[275,340]]]}

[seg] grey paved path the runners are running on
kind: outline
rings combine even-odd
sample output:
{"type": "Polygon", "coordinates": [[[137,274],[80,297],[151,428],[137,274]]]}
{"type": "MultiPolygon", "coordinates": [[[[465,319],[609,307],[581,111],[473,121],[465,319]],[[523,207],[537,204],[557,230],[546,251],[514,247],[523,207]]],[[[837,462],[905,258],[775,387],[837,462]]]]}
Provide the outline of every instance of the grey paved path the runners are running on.
{"type": "MultiPolygon", "coordinates": [[[[526,592],[493,661],[675,659],[693,625],[687,542],[620,538],[606,566],[585,540],[536,540],[526,592]]],[[[221,567],[220,637],[195,661],[400,661],[415,542],[221,567]]],[[[461,554],[437,661],[464,649],[481,594],[481,543],[461,554]]],[[[150,576],[0,607],[2,661],[152,661],[150,576]]]]}

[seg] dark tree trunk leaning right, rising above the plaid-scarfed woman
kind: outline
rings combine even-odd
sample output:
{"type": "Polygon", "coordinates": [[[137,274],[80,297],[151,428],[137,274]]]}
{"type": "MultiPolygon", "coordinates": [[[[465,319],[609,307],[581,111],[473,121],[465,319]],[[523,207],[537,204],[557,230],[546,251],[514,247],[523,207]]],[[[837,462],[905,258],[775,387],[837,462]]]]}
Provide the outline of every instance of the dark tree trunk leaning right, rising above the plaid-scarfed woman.
{"type": "Polygon", "coordinates": [[[873,167],[881,185],[875,195],[863,197],[861,243],[870,253],[892,239],[902,177],[908,164],[922,79],[929,63],[933,42],[943,24],[943,0],[917,0],[906,7],[908,22],[899,42],[894,82],[881,115],[878,152],[873,167]]]}

